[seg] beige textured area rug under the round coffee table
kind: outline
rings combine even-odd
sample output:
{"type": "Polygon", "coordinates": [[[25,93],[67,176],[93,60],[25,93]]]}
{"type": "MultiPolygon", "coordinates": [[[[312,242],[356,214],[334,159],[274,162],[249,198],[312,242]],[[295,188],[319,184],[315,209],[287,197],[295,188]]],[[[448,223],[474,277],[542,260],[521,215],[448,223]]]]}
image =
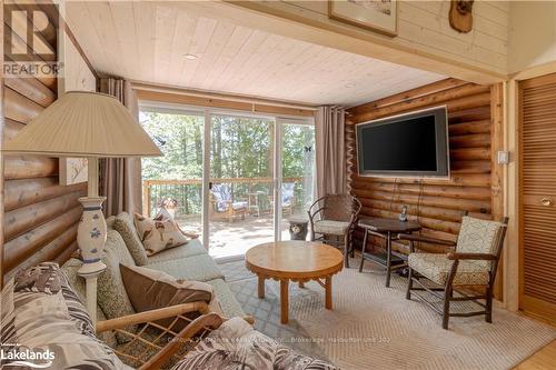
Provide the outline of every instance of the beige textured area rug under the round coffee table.
{"type": "Polygon", "coordinates": [[[484,317],[451,318],[449,330],[444,330],[438,314],[416,299],[405,299],[406,279],[393,274],[386,288],[378,269],[344,269],[335,276],[330,311],[316,282],[302,289],[290,284],[290,322],[281,326],[278,282],[267,281],[266,298],[258,299],[257,279],[244,261],[221,269],[258,330],[345,370],[512,369],[556,338],[554,328],[496,308],[493,323],[484,317]]]}

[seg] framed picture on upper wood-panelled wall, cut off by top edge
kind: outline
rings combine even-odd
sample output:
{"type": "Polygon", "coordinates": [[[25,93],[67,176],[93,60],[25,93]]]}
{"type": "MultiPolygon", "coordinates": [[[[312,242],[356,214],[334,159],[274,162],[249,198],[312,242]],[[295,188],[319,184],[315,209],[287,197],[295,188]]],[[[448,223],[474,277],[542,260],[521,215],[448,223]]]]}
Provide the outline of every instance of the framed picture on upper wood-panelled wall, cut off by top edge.
{"type": "Polygon", "coordinates": [[[328,0],[328,18],[387,36],[398,34],[397,0],[328,0]]]}

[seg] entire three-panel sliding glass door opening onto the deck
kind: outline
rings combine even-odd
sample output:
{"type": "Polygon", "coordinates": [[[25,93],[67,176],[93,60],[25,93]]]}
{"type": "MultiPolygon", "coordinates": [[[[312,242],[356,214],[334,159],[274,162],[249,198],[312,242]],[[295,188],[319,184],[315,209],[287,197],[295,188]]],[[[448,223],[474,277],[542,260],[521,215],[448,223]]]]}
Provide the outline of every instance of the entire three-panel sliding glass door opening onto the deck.
{"type": "Polygon", "coordinates": [[[161,207],[216,258],[289,240],[315,191],[312,120],[141,107],[163,157],[142,160],[143,212],[161,207]]]}

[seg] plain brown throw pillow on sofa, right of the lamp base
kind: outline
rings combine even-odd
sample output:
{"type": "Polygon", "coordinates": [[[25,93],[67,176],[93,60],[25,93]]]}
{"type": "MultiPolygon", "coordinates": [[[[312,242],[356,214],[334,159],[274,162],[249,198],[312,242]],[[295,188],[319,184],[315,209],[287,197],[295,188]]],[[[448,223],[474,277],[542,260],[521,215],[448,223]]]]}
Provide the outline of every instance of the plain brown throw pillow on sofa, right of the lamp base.
{"type": "Polygon", "coordinates": [[[212,288],[200,281],[176,279],[166,272],[120,264],[121,279],[137,312],[187,302],[212,300],[212,288]]]}

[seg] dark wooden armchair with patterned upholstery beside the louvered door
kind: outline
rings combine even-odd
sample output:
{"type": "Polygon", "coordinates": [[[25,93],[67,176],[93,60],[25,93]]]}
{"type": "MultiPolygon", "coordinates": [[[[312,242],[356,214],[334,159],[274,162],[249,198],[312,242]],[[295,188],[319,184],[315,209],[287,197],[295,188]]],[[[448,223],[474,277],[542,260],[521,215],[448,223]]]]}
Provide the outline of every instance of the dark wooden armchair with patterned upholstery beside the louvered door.
{"type": "Polygon", "coordinates": [[[410,251],[406,299],[411,299],[413,291],[434,311],[443,316],[444,329],[448,329],[450,317],[485,314],[485,320],[493,322],[493,286],[507,227],[507,217],[502,222],[497,222],[476,219],[467,216],[466,212],[457,242],[415,234],[399,234],[400,240],[409,241],[410,251]],[[414,243],[416,241],[455,248],[455,251],[446,254],[415,252],[414,243]],[[424,283],[421,281],[424,278],[434,284],[424,283]],[[414,287],[414,283],[418,287],[414,287]],[[475,294],[460,290],[470,287],[479,289],[480,293],[475,294]],[[425,290],[443,300],[443,309],[437,308],[416,290],[425,290]],[[451,313],[450,302],[453,301],[473,301],[483,310],[451,313]]]}

